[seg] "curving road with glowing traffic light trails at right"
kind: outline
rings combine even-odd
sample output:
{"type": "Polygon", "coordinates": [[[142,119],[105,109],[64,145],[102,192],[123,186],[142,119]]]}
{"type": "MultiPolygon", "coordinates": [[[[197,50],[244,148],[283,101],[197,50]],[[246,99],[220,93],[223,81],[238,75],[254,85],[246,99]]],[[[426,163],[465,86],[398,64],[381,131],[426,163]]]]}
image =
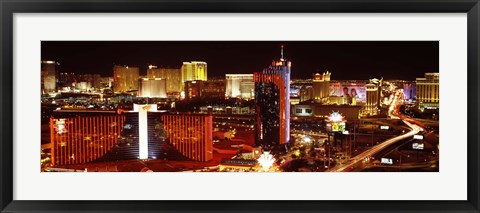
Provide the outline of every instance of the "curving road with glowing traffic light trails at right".
{"type": "MultiPolygon", "coordinates": [[[[396,119],[399,119],[399,117],[397,117],[395,114],[396,110],[396,102],[397,102],[397,96],[398,96],[398,93],[397,95],[395,95],[395,98],[393,99],[392,101],[392,104],[391,104],[391,107],[389,109],[389,116],[391,118],[396,118],[396,119]]],[[[390,138],[390,139],[387,139],[386,141],[358,154],[357,156],[351,158],[349,161],[347,161],[346,163],[344,164],[341,164],[341,165],[337,165],[329,170],[327,170],[327,172],[344,172],[344,171],[347,171],[348,169],[352,168],[353,166],[355,166],[356,164],[358,163],[361,163],[363,160],[365,159],[369,159],[370,156],[380,152],[381,150],[385,149],[386,147],[400,141],[400,140],[403,140],[403,139],[406,139],[406,138],[411,138],[413,137],[413,135],[415,134],[418,134],[422,128],[417,126],[416,124],[412,124],[406,120],[402,120],[411,130],[403,135],[399,135],[399,136],[396,136],[396,137],[393,137],[393,138],[390,138]]]]}

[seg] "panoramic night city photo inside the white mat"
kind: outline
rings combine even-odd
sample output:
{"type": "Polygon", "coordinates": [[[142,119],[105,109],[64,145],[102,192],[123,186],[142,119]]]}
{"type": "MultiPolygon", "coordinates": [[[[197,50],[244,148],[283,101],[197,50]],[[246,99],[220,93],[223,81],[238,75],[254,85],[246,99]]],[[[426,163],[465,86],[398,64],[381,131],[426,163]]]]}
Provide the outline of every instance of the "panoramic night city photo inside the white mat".
{"type": "MultiPolygon", "coordinates": [[[[115,54],[73,64],[100,69],[96,62],[127,53],[122,61],[164,55],[182,66],[122,63],[101,77],[43,58],[42,171],[439,171],[440,73],[419,68],[438,68],[426,60],[438,58],[438,42],[159,42],[149,48],[163,44],[163,52],[150,55],[135,54],[143,46],[134,44],[104,42],[115,54]],[[343,51],[329,56],[343,56],[349,72],[295,70],[323,64],[318,50],[328,45],[343,51]],[[230,69],[220,74],[212,63],[230,69]],[[253,65],[261,68],[235,71],[253,65]]],[[[102,53],[81,45],[95,54],[73,51],[76,58],[102,53]]]]}

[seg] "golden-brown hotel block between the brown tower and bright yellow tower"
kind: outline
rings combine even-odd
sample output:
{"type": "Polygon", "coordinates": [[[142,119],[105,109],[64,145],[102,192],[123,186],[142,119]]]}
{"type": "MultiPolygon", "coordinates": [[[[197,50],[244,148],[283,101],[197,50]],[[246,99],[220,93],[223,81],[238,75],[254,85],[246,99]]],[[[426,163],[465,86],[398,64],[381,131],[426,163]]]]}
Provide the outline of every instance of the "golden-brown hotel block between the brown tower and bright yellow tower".
{"type": "Polygon", "coordinates": [[[147,78],[163,78],[167,81],[167,93],[178,94],[182,91],[182,72],[180,68],[158,68],[149,65],[147,78]]]}

